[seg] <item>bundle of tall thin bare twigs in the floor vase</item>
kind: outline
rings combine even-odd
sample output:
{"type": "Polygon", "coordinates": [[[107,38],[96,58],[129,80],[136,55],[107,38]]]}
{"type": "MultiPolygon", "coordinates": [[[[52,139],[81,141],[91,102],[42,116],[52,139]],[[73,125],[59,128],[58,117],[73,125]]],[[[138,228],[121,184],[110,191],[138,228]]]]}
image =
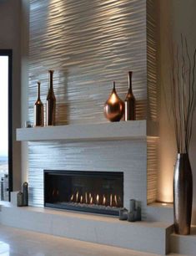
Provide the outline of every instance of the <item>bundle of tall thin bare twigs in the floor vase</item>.
{"type": "Polygon", "coordinates": [[[187,39],[181,35],[180,47],[172,49],[172,56],[171,96],[175,137],[178,153],[188,153],[193,131],[196,49],[191,59],[187,39]]]}

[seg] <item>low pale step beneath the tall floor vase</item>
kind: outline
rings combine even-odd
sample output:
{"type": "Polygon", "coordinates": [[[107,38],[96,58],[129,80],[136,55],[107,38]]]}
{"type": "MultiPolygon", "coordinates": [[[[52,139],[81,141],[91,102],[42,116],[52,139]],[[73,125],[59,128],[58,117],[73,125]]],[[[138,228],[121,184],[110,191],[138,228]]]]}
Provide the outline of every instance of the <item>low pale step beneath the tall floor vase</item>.
{"type": "Polygon", "coordinates": [[[191,227],[191,234],[188,236],[170,235],[170,250],[173,253],[196,255],[196,226],[191,227]]]}

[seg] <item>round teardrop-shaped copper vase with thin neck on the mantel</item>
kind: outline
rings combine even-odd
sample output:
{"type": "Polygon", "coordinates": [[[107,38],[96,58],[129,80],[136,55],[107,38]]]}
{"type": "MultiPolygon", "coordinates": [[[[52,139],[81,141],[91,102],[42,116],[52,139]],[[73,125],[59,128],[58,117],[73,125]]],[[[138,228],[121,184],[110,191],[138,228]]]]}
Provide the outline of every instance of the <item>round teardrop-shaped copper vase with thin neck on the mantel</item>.
{"type": "Polygon", "coordinates": [[[115,82],[113,82],[113,90],[108,100],[104,105],[104,115],[111,122],[121,120],[124,112],[124,103],[121,100],[115,89],[115,82]]]}

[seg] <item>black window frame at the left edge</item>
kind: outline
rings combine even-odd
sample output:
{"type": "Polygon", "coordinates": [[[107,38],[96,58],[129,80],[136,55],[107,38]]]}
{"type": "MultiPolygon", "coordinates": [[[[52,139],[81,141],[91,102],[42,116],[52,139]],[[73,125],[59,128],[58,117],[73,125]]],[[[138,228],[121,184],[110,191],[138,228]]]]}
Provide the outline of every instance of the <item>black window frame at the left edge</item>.
{"type": "Polygon", "coordinates": [[[8,56],[8,185],[13,191],[13,50],[0,49],[0,56],[8,56]]]}

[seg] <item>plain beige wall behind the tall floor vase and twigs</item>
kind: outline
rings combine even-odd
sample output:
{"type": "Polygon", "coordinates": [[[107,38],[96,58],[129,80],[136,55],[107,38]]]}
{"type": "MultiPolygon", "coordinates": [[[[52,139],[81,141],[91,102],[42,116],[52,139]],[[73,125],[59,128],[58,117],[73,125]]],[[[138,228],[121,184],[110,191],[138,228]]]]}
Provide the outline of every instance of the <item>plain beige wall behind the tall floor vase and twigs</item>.
{"type": "MultiPolygon", "coordinates": [[[[196,47],[196,1],[195,0],[159,0],[160,4],[160,83],[169,84],[169,44],[180,41],[180,33],[188,39],[188,45],[193,53],[196,47]]],[[[162,91],[160,110],[160,172],[158,177],[158,200],[171,202],[173,200],[173,165],[176,148],[173,125],[168,118],[167,107],[164,104],[162,91]]],[[[168,110],[169,112],[169,110],[168,110]]],[[[193,137],[189,156],[193,171],[193,223],[196,223],[196,113],[193,119],[193,137]]]]}

